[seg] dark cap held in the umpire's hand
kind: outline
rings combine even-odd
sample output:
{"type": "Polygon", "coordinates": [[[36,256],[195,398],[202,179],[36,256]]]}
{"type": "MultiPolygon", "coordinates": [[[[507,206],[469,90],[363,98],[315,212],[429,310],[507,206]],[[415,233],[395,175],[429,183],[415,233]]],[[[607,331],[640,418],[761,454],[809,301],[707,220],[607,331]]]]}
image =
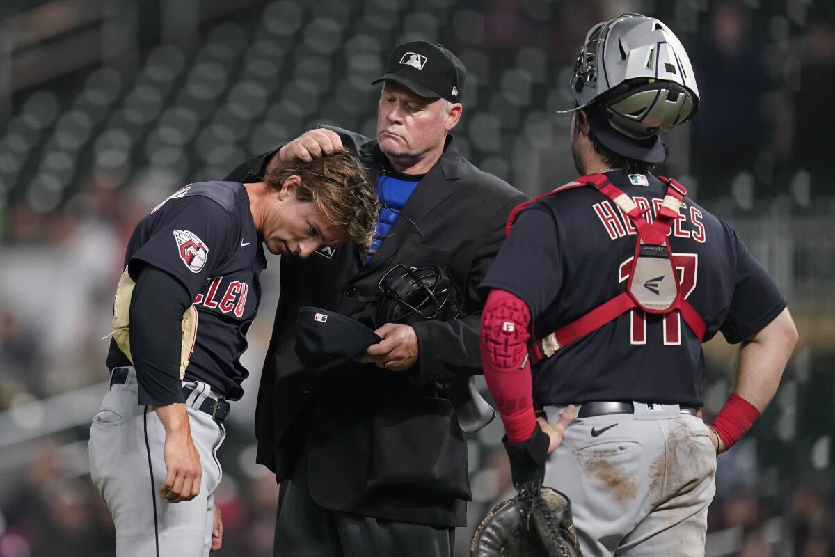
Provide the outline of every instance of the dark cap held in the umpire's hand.
{"type": "Polygon", "coordinates": [[[380,341],[361,322],[336,311],[302,307],[296,318],[296,356],[316,372],[351,362],[380,341]]]}

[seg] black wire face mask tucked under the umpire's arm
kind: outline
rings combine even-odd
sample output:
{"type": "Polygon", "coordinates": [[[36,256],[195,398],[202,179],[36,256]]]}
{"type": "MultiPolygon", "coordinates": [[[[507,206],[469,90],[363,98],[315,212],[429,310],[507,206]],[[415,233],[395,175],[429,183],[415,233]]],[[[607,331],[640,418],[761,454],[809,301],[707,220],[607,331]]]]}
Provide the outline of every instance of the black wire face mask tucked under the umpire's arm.
{"type": "Polygon", "coordinates": [[[383,323],[448,321],[462,314],[461,293],[437,265],[416,269],[400,263],[382,276],[377,287],[382,292],[377,327],[383,323]]]}

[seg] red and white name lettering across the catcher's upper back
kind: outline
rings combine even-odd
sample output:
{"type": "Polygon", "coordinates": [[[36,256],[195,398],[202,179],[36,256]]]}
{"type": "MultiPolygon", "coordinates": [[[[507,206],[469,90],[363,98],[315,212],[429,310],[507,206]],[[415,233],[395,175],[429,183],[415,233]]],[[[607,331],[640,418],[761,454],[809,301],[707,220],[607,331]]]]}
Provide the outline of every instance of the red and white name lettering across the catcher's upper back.
{"type": "MultiPolygon", "coordinates": [[[[655,215],[658,214],[661,204],[664,202],[660,198],[647,200],[645,197],[638,196],[633,197],[632,200],[635,201],[635,205],[638,205],[641,210],[649,209],[645,212],[644,218],[650,225],[655,219],[655,215]]],[[[595,215],[600,219],[600,222],[606,230],[606,234],[609,235],[611,240],[623,238],[625,235],[637,234],[635,225],[632,224],[630,218],[620,210],[620,207],[611,204],[609,200],[595,203],[591,208],[595,211],[595,215]]],[[[702,217],[701,210],[692,205],[688,207],[686,203],[683,203],[679,207],[679,216],[673,221],[673,225],[670,227],[667,235],[674,235],[676,238],[693,239],[700,244],[704,244],[707,238],[705,235],[705,225],[701,222],[702,217]]]]}

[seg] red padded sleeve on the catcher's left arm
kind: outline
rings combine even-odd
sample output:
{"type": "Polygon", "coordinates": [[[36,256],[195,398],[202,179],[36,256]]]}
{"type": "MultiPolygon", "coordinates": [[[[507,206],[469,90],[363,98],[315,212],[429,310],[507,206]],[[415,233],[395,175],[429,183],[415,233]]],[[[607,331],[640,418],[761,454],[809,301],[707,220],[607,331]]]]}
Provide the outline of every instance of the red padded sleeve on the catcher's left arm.
{"type": "Polygon", "coordinates": [[[492,290],[481,315],[481,362],[511,443],[534,433],[528,355],[530,310],[508,291],[492,290]]]}

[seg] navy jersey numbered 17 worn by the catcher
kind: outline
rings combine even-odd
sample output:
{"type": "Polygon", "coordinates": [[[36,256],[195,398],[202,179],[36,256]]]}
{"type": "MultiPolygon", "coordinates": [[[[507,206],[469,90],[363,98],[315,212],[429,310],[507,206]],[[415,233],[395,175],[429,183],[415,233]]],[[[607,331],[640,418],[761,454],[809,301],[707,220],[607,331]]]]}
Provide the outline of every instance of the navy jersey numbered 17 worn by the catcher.
{"type": "MultiPolygon", "coordinates": [[[[666,186],[652,175],[607,173],[654,216],[666,186]]],[[[705,341],[759,332],[787,305],[731,226],[685,198],[670,230],[681,288],[706,323],[705,341]]],[[[652,220],[648,219],[648,222],[652,220]]],[[[549,195],[524,210],[481,283],[519,296],[539,339],[624,292],[636,234],[590,186],[549,195]]],[[[534,367],[536,403],[634,400],[701,406],[704,355],[681,315],[626,312],[534,367]]]]}

